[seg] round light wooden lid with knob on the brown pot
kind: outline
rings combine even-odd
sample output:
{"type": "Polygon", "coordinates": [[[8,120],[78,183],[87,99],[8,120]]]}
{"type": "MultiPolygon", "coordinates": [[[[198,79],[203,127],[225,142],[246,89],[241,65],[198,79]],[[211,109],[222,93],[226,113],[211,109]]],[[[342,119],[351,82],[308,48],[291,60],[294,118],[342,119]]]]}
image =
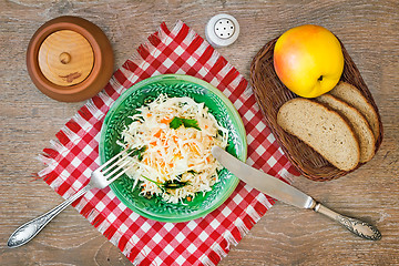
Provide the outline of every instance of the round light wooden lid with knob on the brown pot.
{"type": "Polygon", "coordinates": [[[69,86],[84,81],[93,69],[94,54],[89,41],[75,31],[50,34],[39,49],[39,68],[54,84],[69,86]]]}

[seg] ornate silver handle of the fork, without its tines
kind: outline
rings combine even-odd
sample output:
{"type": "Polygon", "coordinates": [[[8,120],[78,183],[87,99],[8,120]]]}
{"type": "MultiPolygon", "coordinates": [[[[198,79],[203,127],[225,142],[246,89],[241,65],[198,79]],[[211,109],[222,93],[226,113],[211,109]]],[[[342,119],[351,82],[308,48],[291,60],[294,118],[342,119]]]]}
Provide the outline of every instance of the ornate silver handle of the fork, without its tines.
{"type": "Polygon", "coordinates": [[[21,225],[16,229],[14,233],[11,234],[9,241],[7,242],[8,247],[19,247],[23,244],[30,242],[44,226],[53,219],[59,213],[61,213],[65,207],[68,207],[71,203],[73,203],[76,198],[82,196],[84,193],[90,191],[91,186],[86,185],[82,190],[80,190],[76,194],[69,197],[64,202],[62,202],[57,207],[50,209],[49,212],[40,215],[39,217],[29,221],[28,223],[21,225]]]}

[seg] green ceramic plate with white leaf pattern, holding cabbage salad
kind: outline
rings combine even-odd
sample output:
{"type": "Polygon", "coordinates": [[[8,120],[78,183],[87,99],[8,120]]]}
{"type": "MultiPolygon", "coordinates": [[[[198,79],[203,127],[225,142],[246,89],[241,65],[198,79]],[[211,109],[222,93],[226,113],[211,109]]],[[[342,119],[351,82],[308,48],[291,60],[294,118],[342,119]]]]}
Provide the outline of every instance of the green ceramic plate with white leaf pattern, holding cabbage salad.
{"type": "MultiPolygon", "coordinates": [[[[246,160],[246,133],[243,122],[228,99],[211,84],[188,75],[166,74],[146,79],[124,92],[112,105],[101,130],[100,161],[103,164],[121,151],[116,141],[121,132],[132,121],[129,116],[145,102],[155,100],[161,93],[168,96],[190,96],[196,102],[204,102],[209,112],[224,127],[228,129],[228,147],[231,154],[242,161],[246,160]]],[[[217,208],[233,193],[238,178],[227,170],[219,172],[219,182],[205,195],[200,193],[187,205],[165,203],[161,198],[150,200],[140,196],[140,188],[132,190],[133,181],[123,175],[111,190],[117,198],[133,212],[160,222],[186,222],[200,218],[217,208]]]]}

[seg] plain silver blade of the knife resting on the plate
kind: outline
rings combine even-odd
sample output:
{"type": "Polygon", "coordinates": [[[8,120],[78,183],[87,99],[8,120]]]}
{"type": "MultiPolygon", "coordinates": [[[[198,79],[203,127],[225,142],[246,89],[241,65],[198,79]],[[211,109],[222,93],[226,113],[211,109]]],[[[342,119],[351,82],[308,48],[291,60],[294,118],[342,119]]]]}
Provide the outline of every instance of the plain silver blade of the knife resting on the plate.
{"type": "Polygon", "coordinates": [[[232,174],[270,197],[300,208],[313,208],[316,205],[316,201],[301,191],[269,174],[250,167],[219,146],[212,149],[212,155],[232,174]]]}

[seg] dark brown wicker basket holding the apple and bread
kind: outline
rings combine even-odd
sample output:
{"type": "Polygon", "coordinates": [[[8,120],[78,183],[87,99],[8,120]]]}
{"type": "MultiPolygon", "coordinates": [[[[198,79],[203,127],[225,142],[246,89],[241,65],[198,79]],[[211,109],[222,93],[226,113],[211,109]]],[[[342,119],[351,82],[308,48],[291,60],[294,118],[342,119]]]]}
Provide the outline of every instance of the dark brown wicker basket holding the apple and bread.
{"type": "MultiPolygon", "coordinates": [[[[277,38],[263,47],[254,58],[250,65],[250,83],[256,96],[256,101],[259,104],[273,134],[287,155],[288,160],[304,176],[308,177],[309,180],[330,181],[350,173],[351,171],[347,172],[335,167],[311,147],[306,145],[296,136],[286,133],[277,124],[277,112],[279,108],[288,100],[297,98],[297,95],[289,91],[280,82],[274,70],[273,52],[276,41],[277,38]]],[[[377,111],[380,125],[380,134],[376,142],[377,152],[382,141],[382,124],[378,108],[365,81],[362,80],[359,70],[344,48],[342,43],[341,47],[345,58],[341,81],[346,81],[358,88],[377,111]]],[[[362,164],[359,164],[357,168],[361,165],[362,164]]]]}

